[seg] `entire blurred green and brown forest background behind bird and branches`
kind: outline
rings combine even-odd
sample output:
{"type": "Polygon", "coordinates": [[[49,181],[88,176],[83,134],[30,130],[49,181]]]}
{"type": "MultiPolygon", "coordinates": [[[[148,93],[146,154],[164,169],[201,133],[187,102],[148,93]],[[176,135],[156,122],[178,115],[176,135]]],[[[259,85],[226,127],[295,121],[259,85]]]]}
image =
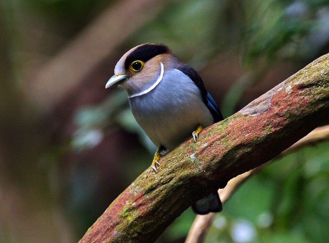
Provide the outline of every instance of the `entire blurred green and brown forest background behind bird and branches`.
{"type": "MultiPolygon", "coordinates": [[[[224,118],[329,52],[325,0],[0,1],[0,242],[77,242],[152,161],[127,94],[130,48],[164,43],[224,118]]],[[[190,208],[158,239],[184,242],[190,208]]],[[[327,242],[329,143],[247,180],[206,242],[327,242]]]]}

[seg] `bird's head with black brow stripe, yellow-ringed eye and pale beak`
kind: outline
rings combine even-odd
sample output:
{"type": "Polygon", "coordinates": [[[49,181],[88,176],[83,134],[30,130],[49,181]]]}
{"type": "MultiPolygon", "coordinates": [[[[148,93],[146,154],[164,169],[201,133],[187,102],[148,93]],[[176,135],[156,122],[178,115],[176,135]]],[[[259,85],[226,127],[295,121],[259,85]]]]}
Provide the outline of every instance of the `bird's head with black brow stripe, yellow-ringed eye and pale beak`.
{"type": "Polygon", "coordinates": [[[138,45],[125,53],[114,68],[114,75],[105,88],[119,85],[129,95],[149,89],[164,75],[164,68],[173,66],[178,59],[163,44],[146,43],[138,45]]]}

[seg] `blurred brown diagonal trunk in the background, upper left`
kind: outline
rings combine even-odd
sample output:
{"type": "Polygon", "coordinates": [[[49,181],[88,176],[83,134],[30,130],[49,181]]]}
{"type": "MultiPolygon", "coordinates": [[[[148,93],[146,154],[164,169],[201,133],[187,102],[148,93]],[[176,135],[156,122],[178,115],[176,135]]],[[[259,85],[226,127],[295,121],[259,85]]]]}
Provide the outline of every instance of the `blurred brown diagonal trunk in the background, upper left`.
{"type": "Polygon", "coordinates": [[[49,112],[74,91],[92,70],[164,8],[164,0],[118,1],[30,77],[28,97],[49,112]],[[143,16],[143,17],[141,17],[143,16]]]}

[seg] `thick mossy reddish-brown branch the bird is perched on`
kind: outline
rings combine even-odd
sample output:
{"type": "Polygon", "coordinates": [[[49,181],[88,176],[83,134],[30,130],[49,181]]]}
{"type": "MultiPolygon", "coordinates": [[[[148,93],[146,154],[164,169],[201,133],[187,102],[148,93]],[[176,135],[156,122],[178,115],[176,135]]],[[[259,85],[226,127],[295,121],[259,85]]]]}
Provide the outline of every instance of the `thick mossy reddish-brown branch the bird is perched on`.
{"type": "Polygon", "coordinates": [[[329,55],[204,129],[140,175],[80,242],[153,242],[196,200],[269,161],[329,119],[329,55]]]}

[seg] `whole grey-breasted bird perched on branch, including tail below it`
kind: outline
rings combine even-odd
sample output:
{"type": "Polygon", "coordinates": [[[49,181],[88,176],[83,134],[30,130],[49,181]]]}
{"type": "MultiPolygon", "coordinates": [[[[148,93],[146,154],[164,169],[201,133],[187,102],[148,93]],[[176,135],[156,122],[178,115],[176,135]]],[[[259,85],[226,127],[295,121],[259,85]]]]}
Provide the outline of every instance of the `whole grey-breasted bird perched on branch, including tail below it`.
{"type": "MultiPolygon", "coordinates": [[[[105,88],[115,86],[127,91],[133,116],[158,148],[151,164],[155,172],[163,153],[191,135],[196,142],[204,127],[223,120],[198,72],[164,44],[145,43],[126,52],[105,88]]],[[[192,209],[197,214],[220,212],[217,191],[192,209]]]]}

